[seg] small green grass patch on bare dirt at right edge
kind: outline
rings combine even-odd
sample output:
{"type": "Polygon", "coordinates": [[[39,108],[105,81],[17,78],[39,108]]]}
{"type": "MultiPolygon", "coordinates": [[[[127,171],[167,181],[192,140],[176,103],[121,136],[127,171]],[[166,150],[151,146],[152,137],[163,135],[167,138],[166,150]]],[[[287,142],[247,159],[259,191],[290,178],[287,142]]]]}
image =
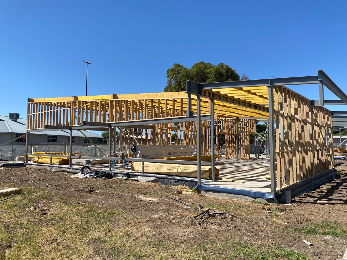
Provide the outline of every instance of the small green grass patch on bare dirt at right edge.
{"type": "Polygon", "coordinates": [[[314,223],[311,225],[302,225],[302,227],[296,228],[294,232],[302,235],[330,235],[334,237],[346,237],[346,230],[336,222],[330,222],[322,220],[320,223],[314,223]]]}

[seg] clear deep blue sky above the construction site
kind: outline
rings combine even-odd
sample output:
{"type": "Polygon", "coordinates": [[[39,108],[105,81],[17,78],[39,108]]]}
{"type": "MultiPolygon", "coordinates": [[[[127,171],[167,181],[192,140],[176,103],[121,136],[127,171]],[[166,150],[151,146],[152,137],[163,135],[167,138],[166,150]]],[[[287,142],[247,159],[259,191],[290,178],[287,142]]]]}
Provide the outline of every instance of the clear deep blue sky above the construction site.
{"type": "MultiPolygon", "coordinates": [[[[1,1],[0,115],[27,98],[162,92],[174,63],[250,79],[317,75],[345,92],[346,1],[1,1]]],[[[318,85],[295,89],[317,99],[318,85]]],[[[335,99],[326,91],[326,99],[335,99]]],[[[328,107],[331,110],[347,107],[328,107]]]]}

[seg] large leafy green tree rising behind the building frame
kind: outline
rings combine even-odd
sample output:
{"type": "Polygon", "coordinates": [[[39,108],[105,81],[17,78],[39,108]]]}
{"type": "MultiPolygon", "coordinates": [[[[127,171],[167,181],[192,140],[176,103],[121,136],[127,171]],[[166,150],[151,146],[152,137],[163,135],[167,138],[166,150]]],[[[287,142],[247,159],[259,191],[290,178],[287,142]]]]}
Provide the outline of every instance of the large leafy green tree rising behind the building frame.
{"type": "MultiPolygon", "coordinates": [[[[223,81],[240,80],[240,75],[236,69],[232,69],[229,65],[219,63],[217,66],[211,63],[200,61],[195,63],[192,68],[186,68],[179,63],[175,63],[172,68],[166,72],[168,84],[164,88],[164,92],[185,91],[186,80],[196,83],[211,83],[223,81]]],[[[241,80],[248,79],[246,75],[241,80]]]]}

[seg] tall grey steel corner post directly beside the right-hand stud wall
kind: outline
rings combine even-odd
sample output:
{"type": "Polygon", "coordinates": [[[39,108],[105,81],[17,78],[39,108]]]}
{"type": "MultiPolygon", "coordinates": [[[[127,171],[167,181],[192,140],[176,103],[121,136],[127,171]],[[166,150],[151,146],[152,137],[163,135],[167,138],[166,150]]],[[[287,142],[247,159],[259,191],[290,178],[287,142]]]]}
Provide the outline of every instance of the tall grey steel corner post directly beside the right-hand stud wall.
{"type": "MultiPolygon", "coordinates": [[[[271,194],[276,193],[276,170],[275,170],[275,124],[273,121],[273,86],[269,86],[269,150],[270,150],[270,187],[271,194]]],[[[279,144],[277,144],[279,145],[279,144]]],[[[280,181],[280,180],[278,180],[280,181]]]]}

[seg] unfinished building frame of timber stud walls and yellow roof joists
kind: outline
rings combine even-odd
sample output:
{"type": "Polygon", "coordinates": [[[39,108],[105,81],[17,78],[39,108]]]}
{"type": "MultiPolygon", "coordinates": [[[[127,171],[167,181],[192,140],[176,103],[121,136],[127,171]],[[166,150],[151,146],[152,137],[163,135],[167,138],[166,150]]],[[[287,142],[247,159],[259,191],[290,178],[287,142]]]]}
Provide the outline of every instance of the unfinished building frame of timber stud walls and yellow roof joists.
{"type": "MultiPolygon", "coordinates": [[[[268,120],[274,195],[333,168],[334,122],[331,111],[322,107],[323,86],[347,104],[346,94],[323,71],[294,78],[204,84],[187,81],[186,92],[29,98],[27,131],[108,130],[111,135],[119,128],[121,136],[133,136],[135,144],[160,145],[170,145],[175,133],[175,144],[183,139],[183,144],[197,145],[202,151],[196,162],[201,184],[201,154],[212,155],[209,165],[214,169],[214,130],[217,136],[225,132],[228,158],[247,159],[249,134],[255,131],[256,120],[268,120]],[[318,84],[320,99],[311,101],[285,87],[301,84],[318,84]]],[[[123,145],[121,140],[120,148],[123,145]]]]}

